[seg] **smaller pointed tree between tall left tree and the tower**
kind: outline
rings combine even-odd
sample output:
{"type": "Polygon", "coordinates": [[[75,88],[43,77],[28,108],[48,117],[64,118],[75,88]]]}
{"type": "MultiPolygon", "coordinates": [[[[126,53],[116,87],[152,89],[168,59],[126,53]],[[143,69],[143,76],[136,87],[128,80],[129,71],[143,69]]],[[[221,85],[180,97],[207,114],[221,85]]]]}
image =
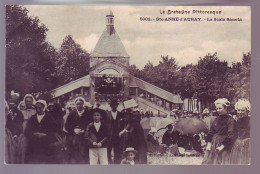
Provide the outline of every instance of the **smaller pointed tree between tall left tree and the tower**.
{"type": "Polygon", "coordinates": [[[59,85],[76,80],[88,74],[89,54],[77,44],[71,35],[66,36],[61,44],[56,61],[59,85]]]}

